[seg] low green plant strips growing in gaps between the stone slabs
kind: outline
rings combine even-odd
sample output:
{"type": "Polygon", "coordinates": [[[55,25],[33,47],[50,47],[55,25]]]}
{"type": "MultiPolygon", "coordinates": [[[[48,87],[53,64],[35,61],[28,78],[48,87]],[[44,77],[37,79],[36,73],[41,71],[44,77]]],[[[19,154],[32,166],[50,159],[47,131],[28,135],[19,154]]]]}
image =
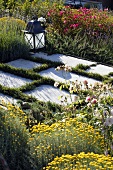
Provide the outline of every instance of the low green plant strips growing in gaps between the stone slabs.
{"type": "MultiPolygon", "coordinates": [[[[42,59],[37,60],[37,58],[34,58],[34,57],[33,58],[30,57],[30,59],[31,59],[31,61],[35,61],[35,62],[37,62],[37,61],[41,62],[41,60],[42,60],[42,59]]],[[[28,79],[31,79],[33,81],[31,83],[27,83],[26,85],[23,85],[19,88],[8,88],[8,87],[1,86],[0,91],[5,93],[5,94],[8,94],[8,95],[10,95],[14,98],[21,99],[21,100],[24,100],[24,101],[34,100],[34,97],[27,96],[27,95],[24,94],[24,92],[29,91],[29,90],[33,90],[37,86],[40,86],[40,85],[43,85],[43,84],[53,86],[54,83],[55,83],[55,80],[53,80],[51,78],[42,77],[42,76],[40,76],[40,74],[38,72],[45,70],[45,68],[47,69],[47,68],[53,67],[53,65],[56,66],[56,65],[59,64],[57,62],[52,62],[52,61],[51,61],[51,63],[49,63],[49,60],[44,60],[42,62],[43,63],[46,62],[46,64],[42,64],[40,67],[33,68],[31,70],[15,68],[13,66],[10,66],[9,64],[1,63],[0,69],[2,71],[5,71],[5,72],[11,73],[11,74],[15,74],[15,75],[18,75],[20,77],[28,78],[28,79]]],[[[80,64],[80,65],[77,65],[75,68],[72,68],[72,72],[79,74],[79,75],[82,75],[82,76],[90,77],[90,78],[93,78],[95,80],[99,80],[99,81],[102,81],[102,82],[105,82],[105,83],[112,83],[113,82],[113,78],[111,78],[110,76],[102,76],[100,74],[86,72],[85,70],[87,68],[89,68],[89,66],[84,66],[84,65],[80,64]]],[[[59,86],[61,86],[61,85],[66,91],[68,91],[69,87],[67,87],[67,85],[65,86],[65,83],[60,83],[59,86]]],[[[88,93],[88,92],[86,93],[86,91],[81,91],[81,92],[84,93],[84,94],[88,93]]],[[[76,92],[76,94],[77,94],[77,92],[76,92]]]]}

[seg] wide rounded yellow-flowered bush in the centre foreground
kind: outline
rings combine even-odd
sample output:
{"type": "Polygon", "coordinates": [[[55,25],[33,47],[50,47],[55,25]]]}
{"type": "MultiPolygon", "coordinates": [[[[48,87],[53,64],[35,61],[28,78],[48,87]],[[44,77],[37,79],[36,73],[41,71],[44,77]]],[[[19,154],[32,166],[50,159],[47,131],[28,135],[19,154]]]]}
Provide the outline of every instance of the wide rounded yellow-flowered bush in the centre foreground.
{"type": "Polygon", "coordinates": [[[38,124],[32,127],[31,134],[29,143],[38,169],[42,165],[46,166],[56,156],[81,151],[102,153],[104,147],[98,130],[76,119],[62,120],[51,126],[38,124]]]}

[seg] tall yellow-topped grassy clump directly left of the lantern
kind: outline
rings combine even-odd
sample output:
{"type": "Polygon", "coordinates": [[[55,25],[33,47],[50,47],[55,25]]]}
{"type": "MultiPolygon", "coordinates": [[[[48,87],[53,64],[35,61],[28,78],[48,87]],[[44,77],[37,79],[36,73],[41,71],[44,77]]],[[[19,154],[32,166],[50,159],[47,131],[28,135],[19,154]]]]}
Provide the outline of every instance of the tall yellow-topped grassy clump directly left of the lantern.
{"type": "Polygon", "coordinates": [[[29,47],[26,44],[22,29],[25,22],[19,19],[4,17],[0,19],[0,61],[11,61],[27,57],[29,47]]]}

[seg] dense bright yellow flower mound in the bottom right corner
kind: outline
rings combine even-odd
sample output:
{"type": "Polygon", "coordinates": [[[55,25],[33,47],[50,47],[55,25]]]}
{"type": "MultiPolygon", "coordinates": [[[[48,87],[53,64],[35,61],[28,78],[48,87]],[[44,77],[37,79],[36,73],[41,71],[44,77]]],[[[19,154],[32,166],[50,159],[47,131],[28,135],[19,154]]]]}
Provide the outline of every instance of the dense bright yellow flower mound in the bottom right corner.
{"type": "Polygon", "coordinates": [[[92,170],[92,169],[112,169],[113,160],[110,156],[95,154],[95,153],[84,153],[74,155],[62,155],[61,157],[56,157],[48,166],[45,167],[46,170],[52,169],[70,169],[70,170],[92,170]]]}

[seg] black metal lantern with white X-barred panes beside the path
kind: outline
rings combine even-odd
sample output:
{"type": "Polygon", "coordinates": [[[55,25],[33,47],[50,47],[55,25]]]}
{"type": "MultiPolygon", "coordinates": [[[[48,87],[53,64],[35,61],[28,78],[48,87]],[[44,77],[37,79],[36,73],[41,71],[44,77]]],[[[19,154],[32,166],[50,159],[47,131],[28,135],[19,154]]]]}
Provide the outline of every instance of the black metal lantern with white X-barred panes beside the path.
{"type": "Polygon", "coordinates": [[[25,41],[34,52],[45,47],[45,29],[41,23],[42,22],[38,21],[37,17],[33,17],[33,20],[28,22],[26,30],[22,30],[24,32],[25,41]]]}

